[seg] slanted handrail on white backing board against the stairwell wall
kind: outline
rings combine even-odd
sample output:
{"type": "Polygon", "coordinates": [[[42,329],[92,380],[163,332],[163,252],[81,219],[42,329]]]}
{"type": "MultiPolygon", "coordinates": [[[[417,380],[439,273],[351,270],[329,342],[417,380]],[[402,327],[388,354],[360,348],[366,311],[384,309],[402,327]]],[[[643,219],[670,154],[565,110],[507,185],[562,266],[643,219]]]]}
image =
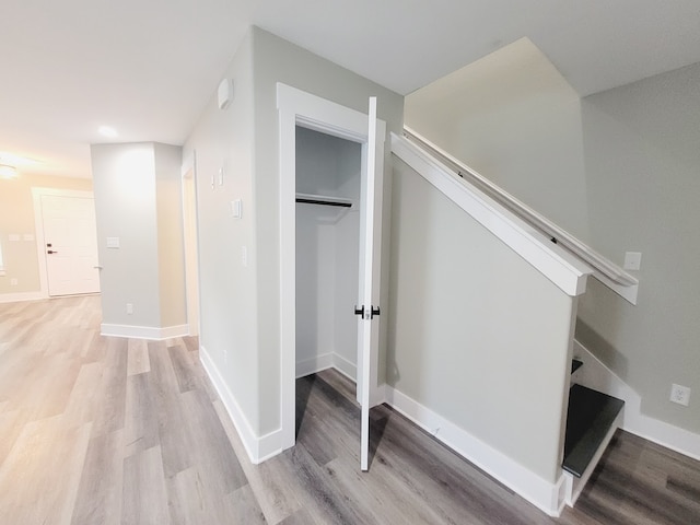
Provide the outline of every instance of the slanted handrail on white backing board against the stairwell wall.
{"type": "Polygon", "coordinates": [[[615,292],[622,295],[632,304],[637,304],[637,289],[639,287],[639,280],[626,272],[618,265],[595,252],[591,246],[582,243],[569,232],[562,230],[557,224],[552,223],[498,185],[491,183],[481,174],[462,163],[459,160],[455,159],[411,128],[404,127],[404,137],[417,144],[419,148],[430,152],[430,154],[448,165],[457,175],[471,183],[478,189],[487,194],[500,205],[504,206],[508,210],[530,224],[533,228],[550,237],[552,242],[559,244],[568,252],[591,265],[596,270],[594,277],[615,292]]]}

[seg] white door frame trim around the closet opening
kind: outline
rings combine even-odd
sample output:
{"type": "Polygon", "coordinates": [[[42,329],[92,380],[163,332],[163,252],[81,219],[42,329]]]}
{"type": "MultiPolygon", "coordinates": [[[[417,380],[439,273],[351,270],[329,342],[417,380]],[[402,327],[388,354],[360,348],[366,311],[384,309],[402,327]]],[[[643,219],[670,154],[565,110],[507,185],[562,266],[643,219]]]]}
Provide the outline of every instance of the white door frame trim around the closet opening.
{"type": "MultiPolygon", "coordinates": [[[[280,175],[280,423],[281,448],[296,441],[296,126],[362,144],[366,159],[369,116],[335,102],[278,82],[280,175]]],[[[386,122],[377,120],[380,137],[386,122]]],[[[383,155],[383,151],[377,150],[383,155]]],[[[362,177],[366,177],[365,163],[362,177]]],[[[376,362],[376,355],[371,357],[376,362]]],[[[376,366],[375,366],[376,370],[376,366]]],[[[360,363],[358,362],[358,373],[360,363]]],[[[376,381],[370,398],[376,398],[376,381]]]]}

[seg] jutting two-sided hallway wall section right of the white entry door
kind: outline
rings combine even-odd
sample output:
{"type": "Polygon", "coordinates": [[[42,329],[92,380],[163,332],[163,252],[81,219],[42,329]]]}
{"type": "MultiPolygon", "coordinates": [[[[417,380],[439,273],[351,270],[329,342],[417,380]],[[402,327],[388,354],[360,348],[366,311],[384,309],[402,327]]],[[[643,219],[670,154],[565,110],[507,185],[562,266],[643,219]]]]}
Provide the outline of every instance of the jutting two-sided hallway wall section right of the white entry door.
{"type": "Polygon", "coordinates": [[[179,189],[167,189],[179,187],[179,147],[153,142],[91,147],[104,324],[164,328],[187,322],[182,202],[179,189]],[[118,237],[119,248],[107,248],[107,237],[118,237]],[[168,244],[162,254],[161,238],[168,244]]]}

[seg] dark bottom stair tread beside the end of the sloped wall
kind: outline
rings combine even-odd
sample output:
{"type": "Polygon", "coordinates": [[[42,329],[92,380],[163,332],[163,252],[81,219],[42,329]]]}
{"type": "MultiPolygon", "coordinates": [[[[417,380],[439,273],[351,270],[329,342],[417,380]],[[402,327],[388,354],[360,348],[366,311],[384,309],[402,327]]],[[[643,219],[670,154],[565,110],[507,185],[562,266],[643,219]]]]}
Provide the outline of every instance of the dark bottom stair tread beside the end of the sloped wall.
{"type": "Polygon", "coordinates": [[[625,401],[581,385],[569,390],[562,468],[581,477],[605,440],[625,401]]]}

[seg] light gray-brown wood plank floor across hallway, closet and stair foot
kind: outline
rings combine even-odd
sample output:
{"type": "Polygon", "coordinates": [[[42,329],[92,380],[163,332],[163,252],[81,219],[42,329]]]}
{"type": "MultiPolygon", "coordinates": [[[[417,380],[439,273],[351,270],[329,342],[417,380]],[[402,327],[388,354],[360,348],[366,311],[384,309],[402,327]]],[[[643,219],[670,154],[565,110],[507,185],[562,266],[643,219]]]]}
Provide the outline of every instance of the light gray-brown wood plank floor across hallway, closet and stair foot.
{"type": "Polygon", "coordinates": [[[298,381],[298,445],[254,466],[197,340],[104,338],[100,299],[0,304],[0,524],[700,524],[700,465],[618,432],[559,520],[388,407],[359,471],[354,385],[298,381]]]}

